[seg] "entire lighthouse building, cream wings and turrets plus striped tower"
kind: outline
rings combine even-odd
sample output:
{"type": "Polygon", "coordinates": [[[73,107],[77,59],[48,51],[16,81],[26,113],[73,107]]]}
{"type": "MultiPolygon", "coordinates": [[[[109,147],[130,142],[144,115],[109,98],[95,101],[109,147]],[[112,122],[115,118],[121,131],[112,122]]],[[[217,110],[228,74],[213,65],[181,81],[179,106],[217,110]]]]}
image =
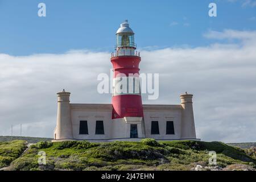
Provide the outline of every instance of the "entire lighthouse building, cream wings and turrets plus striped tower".
{"type": "Polygon", "coordinates": [[[139,78],[141,57],[127,20],[116,35],[117,46],[111,58],[114,72],[112,104],[71,104],[71,93],[65,90],[57,93],[53,141],[199,140],[196,138],[192,94],[182,94],[179,105],[143,105],[139,78]],[[120,84],[123,80],[129,84],[120,84]]]}

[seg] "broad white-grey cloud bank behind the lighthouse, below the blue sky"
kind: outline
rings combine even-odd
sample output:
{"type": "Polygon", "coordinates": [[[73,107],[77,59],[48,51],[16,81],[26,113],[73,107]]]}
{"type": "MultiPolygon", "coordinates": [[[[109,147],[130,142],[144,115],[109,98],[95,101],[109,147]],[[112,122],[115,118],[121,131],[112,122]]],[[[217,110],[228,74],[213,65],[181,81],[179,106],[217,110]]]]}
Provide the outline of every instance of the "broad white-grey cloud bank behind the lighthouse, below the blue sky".
{"type": "MultiPolygon", "coordinates": [[[[194,94],[196,130],[203,140],[246,142],[256,139],[256,33],[209,31],[217,42],[207,47],[165,48],[141,52],[141,72],[160,73],[159,100],[179,104],[179,94],[194,94]],[[237,39],[232,44],[218,43],[237,39]]],[[[97,93],[97,75],[109,73],[108,52],[69,51],[61,55],[0,54],[0,135],[52,137],[56,92],[71,92],[73,103],[110,103],[97,93]]]]}

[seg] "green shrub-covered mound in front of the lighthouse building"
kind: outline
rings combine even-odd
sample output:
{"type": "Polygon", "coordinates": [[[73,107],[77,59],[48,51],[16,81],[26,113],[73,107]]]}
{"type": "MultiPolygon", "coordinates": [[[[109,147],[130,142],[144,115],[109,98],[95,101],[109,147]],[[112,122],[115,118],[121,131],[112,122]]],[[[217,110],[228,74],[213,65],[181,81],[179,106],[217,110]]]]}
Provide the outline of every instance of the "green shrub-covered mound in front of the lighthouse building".
{"type": "Polygon", "coordinates": [[[221,142],[39,142],[11,163],[13,170],[190,170],[208,166],[209,151],[217,152],[217,165],[254,166],[255,158],[241,148],[221,142]],[[39,165],[39,151],[46,152],[46,165],[39,165]]]}

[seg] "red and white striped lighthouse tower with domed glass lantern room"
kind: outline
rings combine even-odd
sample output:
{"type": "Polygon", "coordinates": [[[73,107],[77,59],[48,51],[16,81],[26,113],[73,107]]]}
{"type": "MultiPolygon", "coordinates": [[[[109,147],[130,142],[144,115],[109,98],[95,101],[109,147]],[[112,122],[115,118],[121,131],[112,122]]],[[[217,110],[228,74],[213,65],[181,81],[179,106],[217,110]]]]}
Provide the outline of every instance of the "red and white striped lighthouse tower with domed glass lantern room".
{"type": "MultiPolygon", "coordinates": [[[[125,20],[117,30],[117,46],[112,53],[113,64],[113,113],[112,118],[126,122],[142,122],[143,108],[139,81],[141,57],[134,43],[134,32],[125,20]]],[[[138,129],[140,130],[140,129],[138,129]]],[[[143,133],[143,132],[142,132],[143,133]]]]}

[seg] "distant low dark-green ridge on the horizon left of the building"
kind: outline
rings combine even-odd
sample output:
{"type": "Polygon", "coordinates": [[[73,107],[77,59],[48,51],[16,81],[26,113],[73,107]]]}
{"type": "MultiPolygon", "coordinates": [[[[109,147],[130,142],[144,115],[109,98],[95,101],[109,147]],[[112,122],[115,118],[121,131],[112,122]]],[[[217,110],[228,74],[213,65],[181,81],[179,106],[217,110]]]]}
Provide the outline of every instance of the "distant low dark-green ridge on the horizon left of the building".
{"type": "Polygon", "coordinates": [[[51,141],[52,138],[38,138],[38,137],[10,137],[10,136],[0,136],[0,142],[10,142],[11,140],[25,140],[28,143],[37,143],[40,141],[51,141]],[[13,139],[12,139],[13,138],[13,139]]]}

